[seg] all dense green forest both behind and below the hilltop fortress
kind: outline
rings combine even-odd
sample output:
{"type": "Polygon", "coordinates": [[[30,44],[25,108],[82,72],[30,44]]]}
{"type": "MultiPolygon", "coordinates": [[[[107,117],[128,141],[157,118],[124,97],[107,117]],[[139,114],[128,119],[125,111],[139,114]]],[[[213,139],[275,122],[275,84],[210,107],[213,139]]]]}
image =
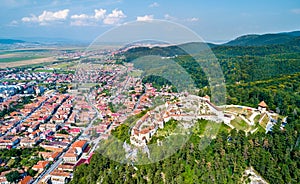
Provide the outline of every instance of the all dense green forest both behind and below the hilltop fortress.
{"type": "MultiPolygon", "coordinates": [[[[259,46],[213,45],[211,49],[224,73],[227,104],[257,107],[264,100],[269,109],[288,116],[284,130],[280,121],[268,134],[258,131],[246,136],[243,131],[220,129],[204,150],[199,144],[205,137],[193,132],[174,155],[148,165],[120,164],[96,152],[89,165],[76,168],[71,183],[247,183],[241,178],[249,167],[269,183],[300,183],[299,39],[259,46]]],[[[135,48],[125,53],[124,61],[150,54],[178,55],[175,61],[190,73],[199,95],[210,94],[201,66],[180,48],[135,48]]],[[[145,82],[166,84],[161,80],[149,77],[145,82]]],[[[207,123],[211,122],[199,121],[196,126],[201,129],[207,123]]]]}

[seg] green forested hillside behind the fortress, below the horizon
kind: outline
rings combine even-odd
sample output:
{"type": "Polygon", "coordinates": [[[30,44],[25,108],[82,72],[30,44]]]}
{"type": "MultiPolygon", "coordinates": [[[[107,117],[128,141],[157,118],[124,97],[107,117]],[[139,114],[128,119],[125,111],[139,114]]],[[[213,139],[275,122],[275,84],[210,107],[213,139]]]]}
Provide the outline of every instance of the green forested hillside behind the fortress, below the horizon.
{"type": "MultiPolygon", "coordinates": [[[[228,46],[226,44],[217,46],[210,44],[209,46],[220,63],[225,77],[227,104],[256,107],[259,101],[265,100],[270,104],[271,109],[275,110],[276,107],[281,109],[280,113],[283,115],[288,113],[287,108],[290,109],[289,112],[300,112],[298,93],[300,37],[298,37],[298,33],[282,33],[292,35],[285,44],[281,42],[264,46],[259,43],[258,46],[228,46]]],[[[277,36],[275,34],[275,37],[277,36]]],[[[261,37],[264,38],[265,35],[261,37]]],[[[172,59],[191,75],[196,86],[200,89],[200,95],[210,94],[207,77],[201,66],[193,58],[197,54],[191,57],[182,49],[193,50],[192,48],[197,46],[204,53],[205,49],[208,49],[208,47],[203,46],[203,43],[183,44],[178,47],[134,48],[124,54],[125,62],[131,62],[147,55],[176,56],[172,59]]],[[[168,83],[168,81],[163,81],[163,79],[155,76],[148,76],[144,81],[152,82],[156,86],[168,83]]]]}

